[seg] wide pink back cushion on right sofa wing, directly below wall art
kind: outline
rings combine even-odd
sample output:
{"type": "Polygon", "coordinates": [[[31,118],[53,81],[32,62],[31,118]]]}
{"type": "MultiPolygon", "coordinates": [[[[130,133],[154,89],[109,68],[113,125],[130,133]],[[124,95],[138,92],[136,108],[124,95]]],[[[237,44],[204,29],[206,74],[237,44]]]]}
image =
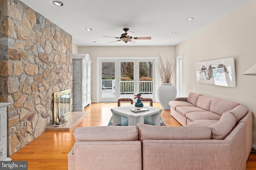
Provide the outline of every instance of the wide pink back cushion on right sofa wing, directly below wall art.
{"type": "Polygon", "coordinates": [[[238,105],[240,104],[214,97],[212,98],[210,111],[218,115],[222,115],[224,112],[230,111],[238,105]]]}

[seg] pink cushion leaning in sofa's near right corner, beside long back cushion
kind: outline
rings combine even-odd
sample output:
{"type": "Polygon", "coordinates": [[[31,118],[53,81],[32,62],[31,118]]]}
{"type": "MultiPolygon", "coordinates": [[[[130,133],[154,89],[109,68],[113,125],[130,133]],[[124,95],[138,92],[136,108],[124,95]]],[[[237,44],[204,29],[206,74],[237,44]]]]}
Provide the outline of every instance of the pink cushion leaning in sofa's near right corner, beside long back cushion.
{"type": "Polygon", "coordinates": [[[230,112],[225,112],[217,123],[210,125],[212,129],[211,139],[224,139],[235,127],[236,118],[230,112]]]}

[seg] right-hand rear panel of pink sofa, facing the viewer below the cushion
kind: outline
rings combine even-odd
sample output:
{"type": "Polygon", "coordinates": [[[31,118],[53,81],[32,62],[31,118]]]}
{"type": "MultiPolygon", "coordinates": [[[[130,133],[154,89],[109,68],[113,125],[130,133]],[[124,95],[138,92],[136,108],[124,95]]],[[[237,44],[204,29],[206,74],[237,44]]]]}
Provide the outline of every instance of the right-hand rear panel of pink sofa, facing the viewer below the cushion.
{"type": "Polygon", "coordinates": [[[241,123],[224,140],[144,140],[142,166],[144,169],[246,170],[244,133],[241,123]]]}

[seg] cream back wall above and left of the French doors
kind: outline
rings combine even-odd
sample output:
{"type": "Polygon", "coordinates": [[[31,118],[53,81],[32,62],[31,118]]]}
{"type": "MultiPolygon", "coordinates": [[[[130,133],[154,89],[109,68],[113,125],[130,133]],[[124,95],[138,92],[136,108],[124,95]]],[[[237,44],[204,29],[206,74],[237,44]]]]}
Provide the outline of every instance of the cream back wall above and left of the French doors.
{"type": "MultiPolygon", "coordinates": [[[[92,60],[92,102],[96,102],[96,57],[156,57],[158,52],[163,57],[172,57],[176,53],[175,49],[175,46],[78,47],[79,54],[89,54],[92,60]]],[[[174,81],[175,77],[173,84],[174,81]]]]}

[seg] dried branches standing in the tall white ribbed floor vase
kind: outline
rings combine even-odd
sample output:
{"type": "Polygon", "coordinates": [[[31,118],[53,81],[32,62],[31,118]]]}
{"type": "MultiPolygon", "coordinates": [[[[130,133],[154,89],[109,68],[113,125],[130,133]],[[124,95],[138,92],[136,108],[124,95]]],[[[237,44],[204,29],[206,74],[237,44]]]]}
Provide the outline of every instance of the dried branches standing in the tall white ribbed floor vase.
{"type": "Polygon", "coordinates": [[[176,70],[176,57],[163,58],[158,53],[158,74],[162,83],[171,83],[173,74],[176,70]]]}

